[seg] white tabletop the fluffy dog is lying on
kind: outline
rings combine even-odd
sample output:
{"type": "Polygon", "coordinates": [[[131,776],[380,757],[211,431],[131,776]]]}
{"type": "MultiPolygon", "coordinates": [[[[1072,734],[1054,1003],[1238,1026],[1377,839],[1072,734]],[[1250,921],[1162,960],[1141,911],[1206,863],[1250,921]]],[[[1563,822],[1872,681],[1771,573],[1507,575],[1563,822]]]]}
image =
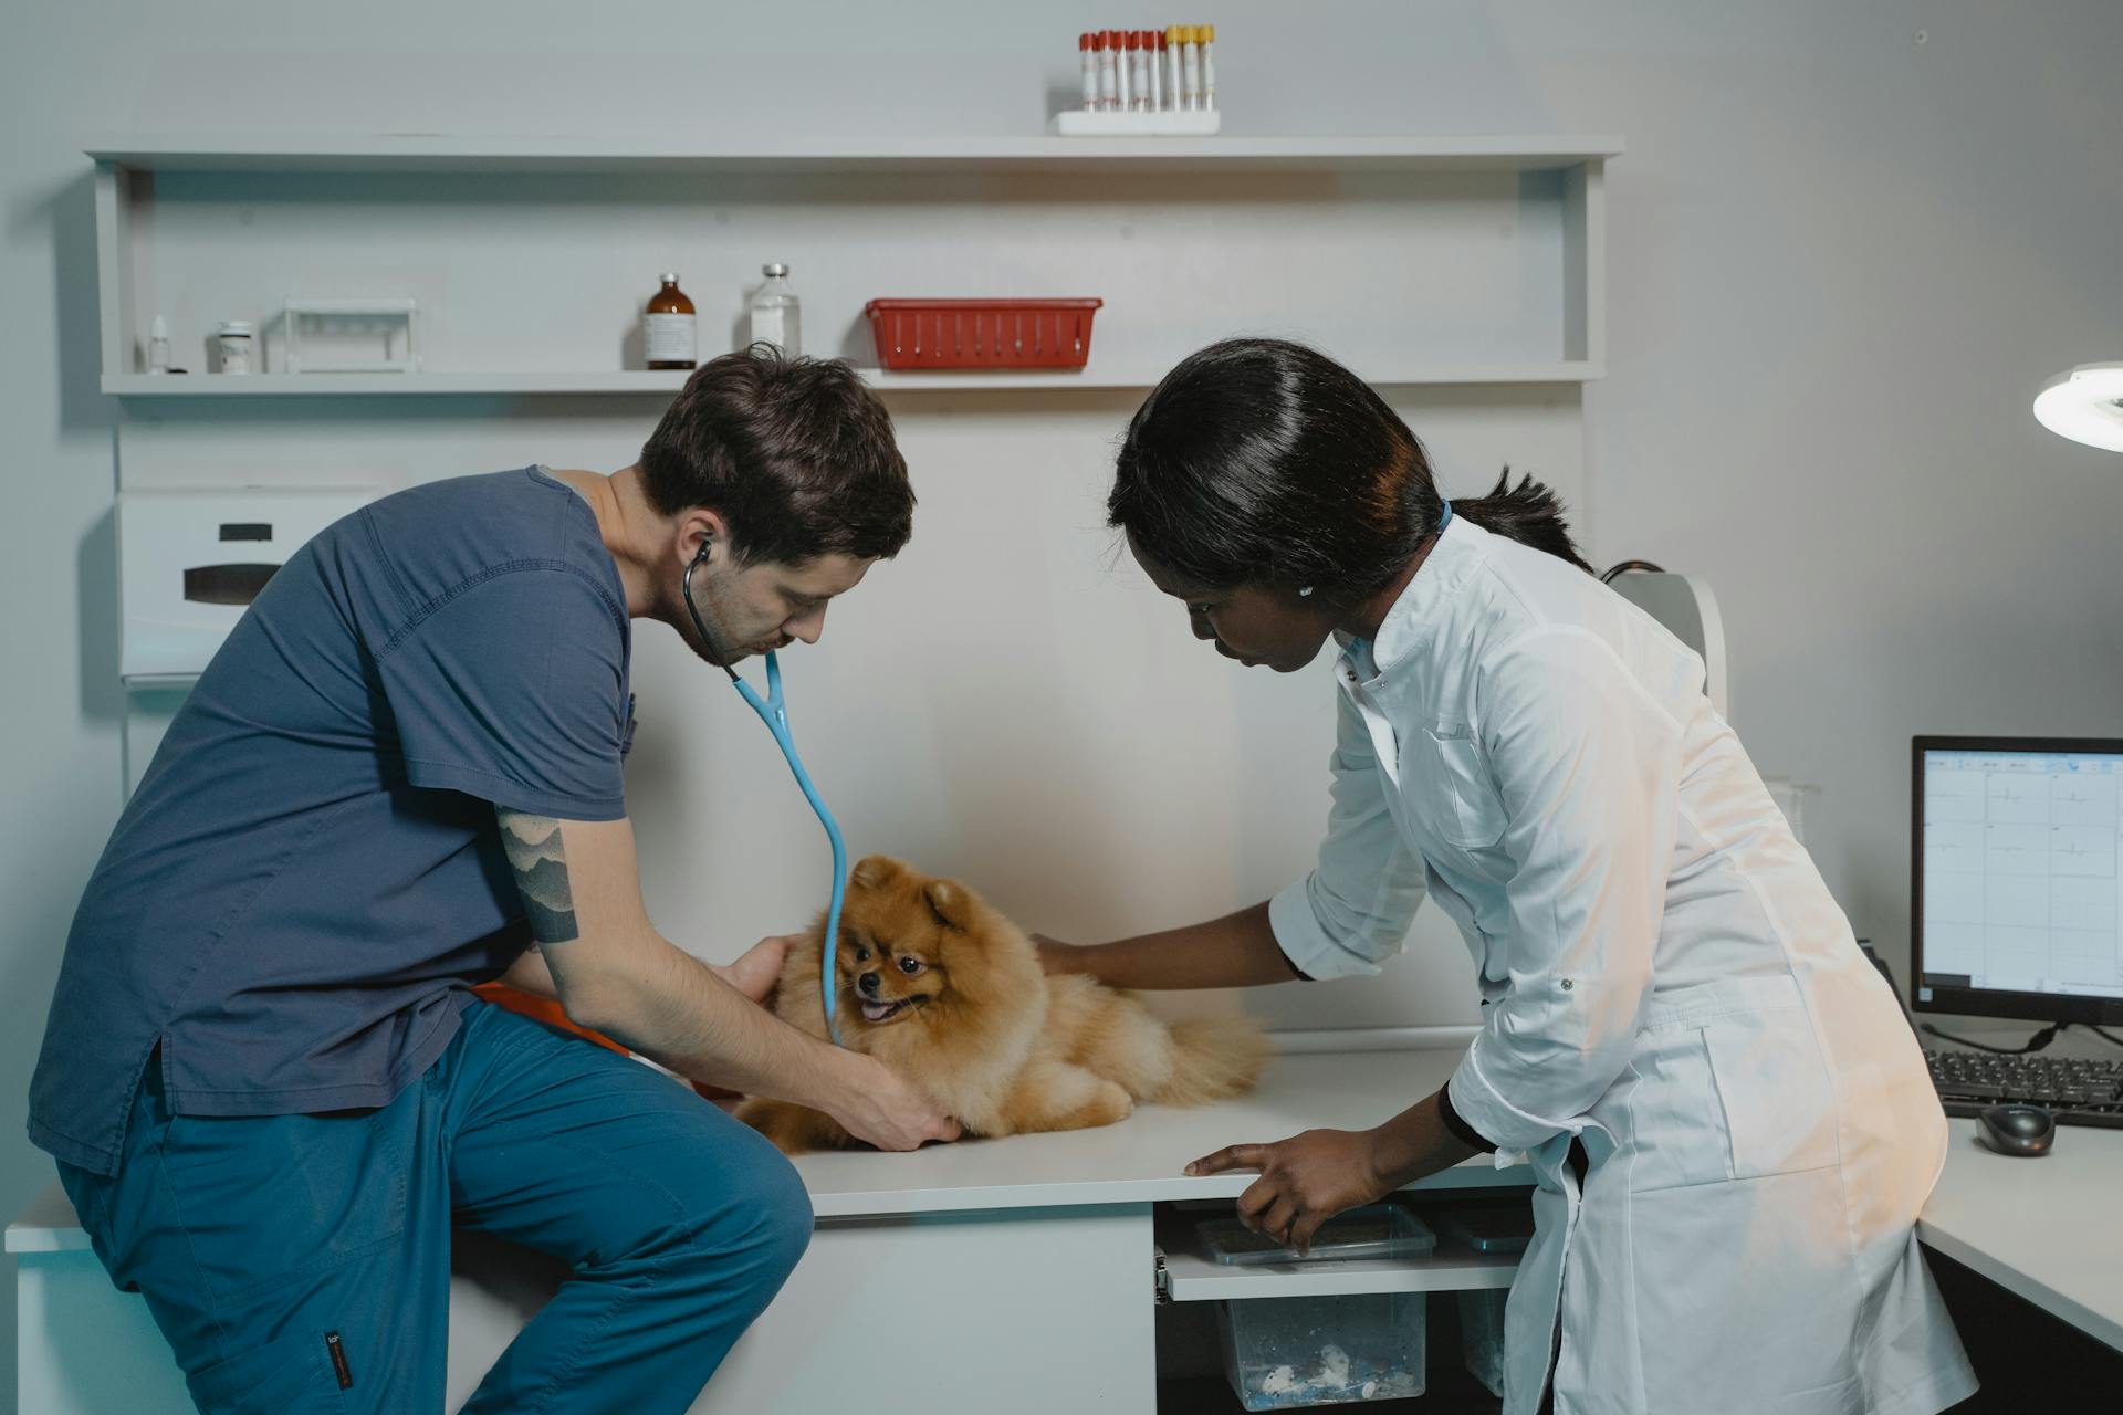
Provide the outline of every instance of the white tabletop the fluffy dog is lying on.
{"type": "MultiPolygon", "coordinates": [[[[1146,1105],[1098,1131],[968,1139],[915,1154],[805,1154],[796,1169],[819,1218],[1233,1199],[1253,1175],[1189,1180],[1180,1169],[1229,1143],[1284,1139],[1314,1126],[1378,1124],[1442,1086],[1459,1056],[1456,1050],[1282,1056],[1253,1095],[1223,1105],[1146,1105]]],[[[1478,1156],[1420,1188],[1486,1184],[1524,1186],[1531,1173],[1497,1169],[1495,1160],[1478,1156]]],[[[87,1237],[57,1184],[6,1230],[8,1252],[72,1247],[87,1247],[87,1237]]]]}

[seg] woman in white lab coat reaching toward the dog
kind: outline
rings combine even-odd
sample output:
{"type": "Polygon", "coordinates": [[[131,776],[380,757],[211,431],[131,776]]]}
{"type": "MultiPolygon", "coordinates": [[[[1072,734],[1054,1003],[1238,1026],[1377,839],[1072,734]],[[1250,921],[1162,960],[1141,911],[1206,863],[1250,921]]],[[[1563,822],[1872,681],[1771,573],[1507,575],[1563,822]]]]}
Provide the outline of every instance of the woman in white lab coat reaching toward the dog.
{"type": "Polygon", "coordinates": [[[1480,969],[1450,1084],[1378,1129],[1244,1143],[1253,1226],[1475,1152],[1529,1158],[1505,1411],[1930,1415],[1974,1390],[1913,1222],[1945,1118],[1887,984],[1703,694],[1554,496],[1448,505],[1422,446],[1308,348],[1216,344],[1121,446],[1112,524],[1197,639],[1293,672],[1331,634],[1318,866],[1267,904],[1051,969],[1119,986],[1378,972],[1425,893],[1480,969]]]}

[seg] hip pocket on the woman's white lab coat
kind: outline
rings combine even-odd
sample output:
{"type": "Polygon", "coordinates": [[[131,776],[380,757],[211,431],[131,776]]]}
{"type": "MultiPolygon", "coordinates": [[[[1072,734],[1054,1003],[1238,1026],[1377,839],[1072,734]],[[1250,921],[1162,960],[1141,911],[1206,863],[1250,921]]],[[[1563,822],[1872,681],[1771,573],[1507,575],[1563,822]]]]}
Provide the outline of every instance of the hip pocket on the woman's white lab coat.
{"type": "Polygon", "coordinates": [[[1834,1088],[1805,1008],[1711,1018],[1703,1044],[1732,1137],[1732,1177],[1760,1180],[1839,1160],[1834,1088]]]}

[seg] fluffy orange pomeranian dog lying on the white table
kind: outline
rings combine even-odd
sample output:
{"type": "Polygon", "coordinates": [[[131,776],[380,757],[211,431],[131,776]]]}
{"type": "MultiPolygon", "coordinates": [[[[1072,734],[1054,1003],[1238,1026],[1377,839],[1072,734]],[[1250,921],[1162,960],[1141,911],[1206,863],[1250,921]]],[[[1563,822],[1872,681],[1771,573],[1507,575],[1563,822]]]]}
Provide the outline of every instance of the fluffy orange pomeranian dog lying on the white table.
{"type": "MultiPolygon", "coordinates": [[[[826,1035],[826,921],[790,948],[775,1010],[826,1035]]],[[[1202,1105],[1253,1088],[1267,1037],[1248,1018],[1163,1023],[1127,993],[1049,978],[1038,948],[957,880],[870,855],[834,950],[841,1042],[877,1056],[966,1135],[1083,1131],[1138,1103],[1202,1105]]],[[[830,1116],[754,1097],[737,1118],[788,1154],[856,1143],[830,1116]]]]}

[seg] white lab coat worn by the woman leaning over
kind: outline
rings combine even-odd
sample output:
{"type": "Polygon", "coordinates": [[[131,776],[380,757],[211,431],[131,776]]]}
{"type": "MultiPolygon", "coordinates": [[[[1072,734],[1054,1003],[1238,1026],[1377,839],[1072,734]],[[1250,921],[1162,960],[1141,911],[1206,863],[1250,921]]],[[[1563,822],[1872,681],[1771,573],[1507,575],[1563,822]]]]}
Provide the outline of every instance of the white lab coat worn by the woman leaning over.
{"type": "Polygon", "coordinates": [[[1972,1394],[1913,1235],[1945,1116],[1703,662],[1456,516],[1335,677],[1327,838],[1270,916],[1314,978],[1376,972],[1425,893],[1473,950],[1484,1025],[1450,1099],[1537,1177],[1505,1415],[1550,1362],[1558,1415],[1972,1394]]]}

